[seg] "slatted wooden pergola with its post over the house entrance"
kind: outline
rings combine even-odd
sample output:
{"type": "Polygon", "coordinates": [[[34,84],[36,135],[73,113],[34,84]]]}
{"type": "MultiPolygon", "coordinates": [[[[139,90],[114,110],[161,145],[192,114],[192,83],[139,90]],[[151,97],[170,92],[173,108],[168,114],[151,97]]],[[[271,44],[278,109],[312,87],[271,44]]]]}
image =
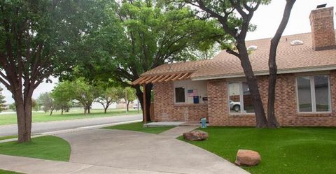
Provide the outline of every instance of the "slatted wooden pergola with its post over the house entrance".
{"type": "Polygon", "coordinates": [[[169,82],[176,80],[186,80],[190,79],[193,72],[184,72],[184,73],[169,73],[161,75],[144,75],[132,82],[132,85],[143,85],[144,87],[144,123],[147,123],[147,111],[146,111],[146,84],[155,83],[155,82],[169,82]]]}

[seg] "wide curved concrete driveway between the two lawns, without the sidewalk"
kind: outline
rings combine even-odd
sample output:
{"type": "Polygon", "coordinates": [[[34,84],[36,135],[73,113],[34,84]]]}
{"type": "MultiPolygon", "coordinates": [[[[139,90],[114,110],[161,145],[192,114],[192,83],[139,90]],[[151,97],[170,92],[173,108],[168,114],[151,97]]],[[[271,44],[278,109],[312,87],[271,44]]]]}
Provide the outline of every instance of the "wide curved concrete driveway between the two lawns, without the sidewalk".
{"type": "Polygon", "coordinates": [[[71,144],[73,163],[148,173],[247,173],[215,154],[169,136],[109,129],[57,136],[71,144]]]}

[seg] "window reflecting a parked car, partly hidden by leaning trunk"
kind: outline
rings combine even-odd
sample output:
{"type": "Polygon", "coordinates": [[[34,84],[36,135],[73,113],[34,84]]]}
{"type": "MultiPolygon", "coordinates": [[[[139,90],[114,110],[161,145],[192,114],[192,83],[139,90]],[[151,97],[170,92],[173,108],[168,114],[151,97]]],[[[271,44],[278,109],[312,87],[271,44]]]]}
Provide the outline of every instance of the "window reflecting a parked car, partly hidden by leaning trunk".
{"type": "Polygon", "coordinates": [[[251,92],[246,82],[229,82],[229,108],[232,114],[254,113],[251,92]]]}

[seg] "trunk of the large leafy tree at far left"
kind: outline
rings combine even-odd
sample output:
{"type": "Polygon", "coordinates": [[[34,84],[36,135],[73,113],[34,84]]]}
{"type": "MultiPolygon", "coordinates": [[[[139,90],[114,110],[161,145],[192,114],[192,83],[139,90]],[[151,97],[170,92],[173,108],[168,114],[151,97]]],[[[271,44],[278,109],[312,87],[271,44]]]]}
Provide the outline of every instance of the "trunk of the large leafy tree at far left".
{"type": "Polygon", "coordinates": [[[31,140],[31,96],[28,96],[25,102],[20,92],[16,95],[15,105],[18,119],[18,143],[25,143],[31,140]]]}

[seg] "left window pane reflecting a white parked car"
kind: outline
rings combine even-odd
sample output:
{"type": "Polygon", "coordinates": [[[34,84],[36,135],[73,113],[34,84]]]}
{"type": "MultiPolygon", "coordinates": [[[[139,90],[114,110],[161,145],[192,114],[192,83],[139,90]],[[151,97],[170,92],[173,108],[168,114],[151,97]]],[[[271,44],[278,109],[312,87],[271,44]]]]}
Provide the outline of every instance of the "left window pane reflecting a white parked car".
{"type": "Polygon", "coordinates": [[[240,113],[239,82],[229,83],[230,113],[240,113]]]}

